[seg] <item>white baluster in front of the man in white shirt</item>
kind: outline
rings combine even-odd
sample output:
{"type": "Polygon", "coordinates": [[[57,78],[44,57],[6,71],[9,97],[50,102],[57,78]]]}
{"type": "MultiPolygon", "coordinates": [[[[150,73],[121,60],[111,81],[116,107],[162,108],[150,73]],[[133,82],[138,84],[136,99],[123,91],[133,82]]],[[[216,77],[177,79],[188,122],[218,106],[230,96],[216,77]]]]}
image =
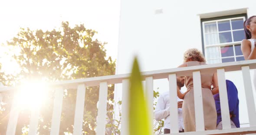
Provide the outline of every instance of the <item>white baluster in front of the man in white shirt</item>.
{"type": "Polygon", "coordinates": [[[176,74],[169,74],[169,96],[170,96],[170,119],[171,119],[170,130],[171,130],[171,133],[179,133],[176,74]]]}

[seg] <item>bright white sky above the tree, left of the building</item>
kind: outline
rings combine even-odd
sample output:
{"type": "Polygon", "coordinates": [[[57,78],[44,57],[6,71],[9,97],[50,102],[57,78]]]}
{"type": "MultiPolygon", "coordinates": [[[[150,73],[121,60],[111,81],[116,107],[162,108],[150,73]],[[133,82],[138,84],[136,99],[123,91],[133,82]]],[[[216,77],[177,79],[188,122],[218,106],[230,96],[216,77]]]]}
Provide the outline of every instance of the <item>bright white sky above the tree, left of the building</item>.
{"type": "MultiPolygon", "coordinates": [[[[98,31],[107,56],[117,58],[120,0],[1,0],[0,44],[15,36],[20,27],[51,30],[62,21],[83,23],[98,31]]],[[[0,53],[3,49],[0,48],[0,53]]]]}

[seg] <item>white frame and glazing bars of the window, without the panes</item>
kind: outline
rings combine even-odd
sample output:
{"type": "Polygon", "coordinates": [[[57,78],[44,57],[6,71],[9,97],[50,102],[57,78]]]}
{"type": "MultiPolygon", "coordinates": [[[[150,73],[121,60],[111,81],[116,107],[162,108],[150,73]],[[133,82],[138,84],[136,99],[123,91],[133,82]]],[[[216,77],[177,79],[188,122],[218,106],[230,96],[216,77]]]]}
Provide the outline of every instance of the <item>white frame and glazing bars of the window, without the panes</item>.
{"type": "MultiPolygon", "coordinates": [[[[217,37],[218,37],[218,42],[220,42],[220,37],[219,37],[219,33],[222,33],[222,32],[231,32],[231,37],[232,37],[232,41],[234,41],[234,38],[233,38],[233,32],[234,31],[239,31],[239,30],[243,30],[243,29],[235,29],[233,30],[232,29],[232,23],[231,23],[231,19],[243,19],[243,21],[246,20],[245,16],[241,16],[241,17],[231,17],[231,18],[226,18],[226,19],[216,19],[216,20],[210,20],[210,21],[203,21],[202,24],[203,24],[203,44],[204,44],[204,52],[205,52],[205,58],[206,60],[217,60],[217,59],[220,59],[220,63],[222,63],[222,58],[234,58],[235,61],[236,61],[236,57],[239,57],[239,56],[243,56],[243,55],[236,55],[236,51],[235,51],[235,45],[240,45],[242,41],[237,41],[237,42],[229,42],[229,43],[220,43],[220,44],[214,44],[214,45],[206,45],[206,34],[210,34],[210,33],[205,33],[205,26],[204,24],[205,23],[216,23],[217,25],[217,37]],[[230,30],[227,30],[227,31],[221,31],[219,32],[219,29],[218,29],[218,22],[221,22],[221,21],[230,21],[230,30]],[[230,56],[230,57],[221,57],[221,47],[223,46],[233,46],[233,51],[234,51],[234,56],[230,56]],[[220,51],[220,57],[219,58],[210,58],[210,59],[207,59],[207,51],[206,49],[207,48],[211,48],[211,47],[219,47],[219,51],[220,51]]],[[[216,32],[214,32],[216,33],[216,32]]]]}

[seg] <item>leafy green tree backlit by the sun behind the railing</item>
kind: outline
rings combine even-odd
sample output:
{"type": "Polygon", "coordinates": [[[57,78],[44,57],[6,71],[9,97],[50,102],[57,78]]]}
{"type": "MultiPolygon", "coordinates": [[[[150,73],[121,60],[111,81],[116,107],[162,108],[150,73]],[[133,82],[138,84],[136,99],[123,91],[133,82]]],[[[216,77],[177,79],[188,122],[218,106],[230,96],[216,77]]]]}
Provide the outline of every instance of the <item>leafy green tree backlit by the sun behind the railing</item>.
{"type": "MultiPolygon", "coordinates": [[[[71,28],[68,22],[62,22],[59,29],[51,31],[20,29],[20,32],[7,42],[7,45],[19,50],[13,55],[13,58],[19,64],[21,72],[13,77],[14,80],[19,82],[23,78],[37,78],[56,81],[115,74],[115,61],[112,61],[111,57],[106,58],[104,48],[106,43],[94,39],[95,33],[96,31],[86,29],[83,24],[71,28]]],[[[113,85],[108,87],[108,100],[113,100],[113,90],[113,85]]],[[[49,91],[49,102],[41,108],[42,120],[39,121],[41,135],[49,134],[53,95],[53,92],[49,91]]],[[[87,87],[85,95],[83,131],[85,135],[94,135],[98,87],[87,87]]],[[[65,90],[60,133],[73,130],[75,98],[76,90],[65,90]]],[[[112,105],[108,105],[108,110],[112,110],[112,107],[112,105]]],[[[109,115],[109,117],[111,116],[109,115]]],[[[26,121],[26,119],[22,120],[26,121]]],[[[27,121],[29,122],[29,120],[27,121]]],[[[16,133],[21,134],[22,128],[28,122],[24,122],[25,125],[24,123],[17,125],[16,133]]],[[[0,127],[3,124],[6,123],[0,123],[0,127]]],[[[0,130],[0,134],[5,134],[5,131],[6,129],[0,130]]]]}

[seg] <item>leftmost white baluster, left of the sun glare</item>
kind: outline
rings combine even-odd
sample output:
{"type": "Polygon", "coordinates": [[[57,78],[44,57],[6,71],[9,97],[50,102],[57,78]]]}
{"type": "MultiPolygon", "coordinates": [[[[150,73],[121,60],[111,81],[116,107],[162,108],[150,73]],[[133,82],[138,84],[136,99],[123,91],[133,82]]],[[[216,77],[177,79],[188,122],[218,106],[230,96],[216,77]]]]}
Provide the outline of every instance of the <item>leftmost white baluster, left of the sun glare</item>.
{"type": "Polygon", "coordinates": [[[16,92],[17,91],[14,91],[13,104],[10,111],[6,135],[15,135],[15,132],[16,132],[16,125],[17,125],[17,121],[20,113],[20,109],[18,106],[18,102],[19,102],[18,94],[16,92]]]}

